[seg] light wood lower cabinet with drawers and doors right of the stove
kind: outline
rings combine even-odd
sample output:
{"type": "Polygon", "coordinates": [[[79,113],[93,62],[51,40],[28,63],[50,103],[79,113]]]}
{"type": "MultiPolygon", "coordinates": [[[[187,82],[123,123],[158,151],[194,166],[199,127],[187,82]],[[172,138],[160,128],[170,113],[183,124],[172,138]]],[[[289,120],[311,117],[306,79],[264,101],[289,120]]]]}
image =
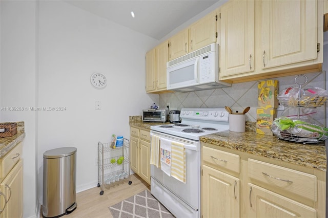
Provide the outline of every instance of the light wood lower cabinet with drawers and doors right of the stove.
{"type": "Polygon", "coordinates": [[[202,143],[201,215],[325,217],[326,172],[202,143]]]}

